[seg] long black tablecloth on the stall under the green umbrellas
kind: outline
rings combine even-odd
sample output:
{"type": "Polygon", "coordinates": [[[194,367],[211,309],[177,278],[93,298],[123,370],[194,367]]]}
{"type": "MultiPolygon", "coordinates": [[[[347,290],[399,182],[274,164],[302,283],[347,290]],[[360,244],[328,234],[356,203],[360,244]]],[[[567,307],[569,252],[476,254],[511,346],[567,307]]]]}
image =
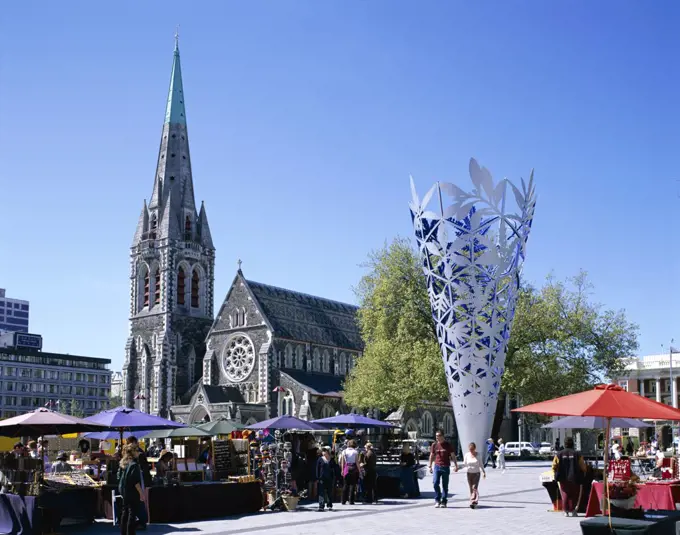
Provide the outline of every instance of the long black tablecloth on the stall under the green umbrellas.
{"type": "Polygon", "coordinates": [[[146,498],[149,521],[161,524],[255,513],[263,505],[258,482],[150,487],[146,498]]]}

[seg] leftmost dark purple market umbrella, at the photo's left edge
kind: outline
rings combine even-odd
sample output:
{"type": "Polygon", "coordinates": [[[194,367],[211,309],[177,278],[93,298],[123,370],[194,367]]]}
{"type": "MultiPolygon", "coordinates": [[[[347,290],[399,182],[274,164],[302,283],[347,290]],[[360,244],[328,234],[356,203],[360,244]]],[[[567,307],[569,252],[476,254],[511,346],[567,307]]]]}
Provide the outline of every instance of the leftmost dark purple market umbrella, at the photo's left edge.
{"type": "Polygon", "coordinates": [[[96,422],[88,422],[75,416],[40,408],[0,421],[0,436],[65,435],[67,433],[101,431],[105,428],[105,425],[96,422]]]}

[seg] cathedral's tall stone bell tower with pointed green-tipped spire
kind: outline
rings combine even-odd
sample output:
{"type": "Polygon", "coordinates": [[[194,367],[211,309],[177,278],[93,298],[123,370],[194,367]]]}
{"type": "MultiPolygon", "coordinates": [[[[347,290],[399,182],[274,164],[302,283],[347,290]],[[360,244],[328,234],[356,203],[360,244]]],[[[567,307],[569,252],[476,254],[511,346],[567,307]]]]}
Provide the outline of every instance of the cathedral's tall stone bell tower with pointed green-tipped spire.
{"type": "Polygon", "coordinates": [[[130,335],[123,401],[168,416],[200,377],[213,321],[215,248],[194,199],[179,47],[175,43],[160,150],[130,251],[130,335]]]}

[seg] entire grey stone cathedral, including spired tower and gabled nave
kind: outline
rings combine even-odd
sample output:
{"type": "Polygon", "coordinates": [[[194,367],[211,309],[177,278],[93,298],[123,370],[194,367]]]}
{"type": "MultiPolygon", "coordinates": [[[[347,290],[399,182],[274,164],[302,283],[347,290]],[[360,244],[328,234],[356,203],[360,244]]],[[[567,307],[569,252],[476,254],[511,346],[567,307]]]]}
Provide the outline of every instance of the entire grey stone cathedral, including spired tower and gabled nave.
{"type": "MultiPolygon", "coordinates": [[[[239,262],[214,317],[214,265],[206,209],[194,199],[175,42],[153,191],[130,251],[124,403],[184,423],[348,412],[342,385],[363,349],[357,307],[249,280],[239,262]]],[[[423,437],[438,427],[455,434],[448,404],[389,419],[423,437]]]]}

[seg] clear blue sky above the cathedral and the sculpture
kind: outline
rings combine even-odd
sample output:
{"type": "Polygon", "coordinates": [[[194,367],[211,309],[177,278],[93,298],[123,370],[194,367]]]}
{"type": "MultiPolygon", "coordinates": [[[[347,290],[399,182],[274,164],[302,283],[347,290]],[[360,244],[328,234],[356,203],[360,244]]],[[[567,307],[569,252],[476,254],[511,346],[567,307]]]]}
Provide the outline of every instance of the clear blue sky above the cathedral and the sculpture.
{"type": "Polygon", "coordinates": [[[12,2],[0,8],[0,287],[46,350],[110,357],[151,194],[180,28],[216,309],[248,278],[352,301],[412,236],[409,174],[536,169],[526,277],[587,270],[594,299],[680,340],[680,4],[12,2]]]}

